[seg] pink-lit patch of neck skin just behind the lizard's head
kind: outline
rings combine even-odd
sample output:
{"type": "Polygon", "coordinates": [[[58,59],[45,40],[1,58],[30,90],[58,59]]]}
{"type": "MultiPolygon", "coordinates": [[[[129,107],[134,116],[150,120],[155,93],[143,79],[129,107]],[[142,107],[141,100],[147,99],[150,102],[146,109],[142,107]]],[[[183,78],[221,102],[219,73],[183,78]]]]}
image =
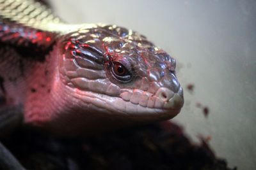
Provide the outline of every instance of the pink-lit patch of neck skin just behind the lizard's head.
{"type": "Polygon", "coordinates": [[[58,74],[58,50],[54,46],[44,62],[36,62],[26,78],[26,98],[24,99],[24,120],[28,124],[47,122],[60,109],[61,85],[58,74]],[[58,103],[58,104],[57,104],[58,103]]]}

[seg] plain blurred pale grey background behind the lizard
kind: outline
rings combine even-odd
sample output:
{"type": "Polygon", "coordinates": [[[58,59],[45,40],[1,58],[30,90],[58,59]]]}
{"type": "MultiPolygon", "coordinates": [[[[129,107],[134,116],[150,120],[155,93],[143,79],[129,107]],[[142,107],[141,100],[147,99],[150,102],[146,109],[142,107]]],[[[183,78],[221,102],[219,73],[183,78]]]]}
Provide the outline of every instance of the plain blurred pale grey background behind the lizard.
{"type": "Polygon", "coordinates": [[[256,169],[256,1],[54,0],[70,23],[139,31],[178,62],[186,102],[173,119],[189,138],[211,136],[228,166],[256,169]],[[196,103],[209,107],[205,118],[196,103]]]}

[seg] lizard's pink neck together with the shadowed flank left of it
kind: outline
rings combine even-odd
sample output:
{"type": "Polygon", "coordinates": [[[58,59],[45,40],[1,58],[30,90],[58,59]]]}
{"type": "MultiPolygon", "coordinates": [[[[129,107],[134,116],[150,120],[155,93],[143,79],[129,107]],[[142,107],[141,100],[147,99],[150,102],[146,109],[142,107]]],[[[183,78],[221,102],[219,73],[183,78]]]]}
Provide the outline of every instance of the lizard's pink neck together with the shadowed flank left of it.
{"type": "Polygon", "coordinates": [[[0,106],[20,106],[29,124],[51,119],[61,103],[57,101],[61,92],[56,90],[62,90],[57,47],[41,60],[8,45],[0,47],[0,55],[0,106]]]}

